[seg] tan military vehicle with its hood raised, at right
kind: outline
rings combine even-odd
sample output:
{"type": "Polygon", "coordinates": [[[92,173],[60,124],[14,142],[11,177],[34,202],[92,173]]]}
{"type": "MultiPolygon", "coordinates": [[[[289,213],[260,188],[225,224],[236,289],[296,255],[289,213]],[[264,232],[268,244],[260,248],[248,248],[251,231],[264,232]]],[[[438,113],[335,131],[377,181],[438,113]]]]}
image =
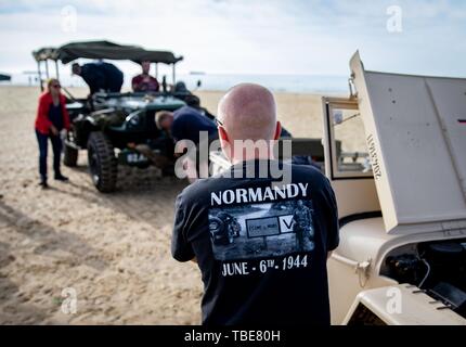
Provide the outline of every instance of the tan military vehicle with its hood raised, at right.
{"type": "Polygon", "coordinates": [[[333,324],[466,325],[466,79],[350,67],[351,97],[322,100],[322,145],[293,140],[337,197],[333,324]]]}

